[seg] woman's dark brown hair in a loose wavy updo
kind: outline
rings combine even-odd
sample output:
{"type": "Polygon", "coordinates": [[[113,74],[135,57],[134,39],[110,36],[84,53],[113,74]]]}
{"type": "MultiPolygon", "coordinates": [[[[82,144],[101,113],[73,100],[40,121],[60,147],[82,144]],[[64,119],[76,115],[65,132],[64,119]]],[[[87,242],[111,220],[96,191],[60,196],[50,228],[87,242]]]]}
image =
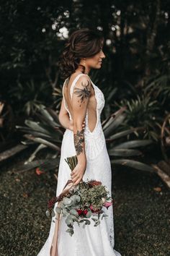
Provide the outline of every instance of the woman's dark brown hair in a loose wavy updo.
{"type": "MultiPolygon", "coordinates": [[[[104,42],[104,37],[99,30],[81,28],[74,31],[65,44],[63,54],[59,59],[61,78],[69,77],[80,65],[81,58],[91,57],[97,54],[104,42]]],[[[83,73],[85,67],[83,67],[83,73]]]]}

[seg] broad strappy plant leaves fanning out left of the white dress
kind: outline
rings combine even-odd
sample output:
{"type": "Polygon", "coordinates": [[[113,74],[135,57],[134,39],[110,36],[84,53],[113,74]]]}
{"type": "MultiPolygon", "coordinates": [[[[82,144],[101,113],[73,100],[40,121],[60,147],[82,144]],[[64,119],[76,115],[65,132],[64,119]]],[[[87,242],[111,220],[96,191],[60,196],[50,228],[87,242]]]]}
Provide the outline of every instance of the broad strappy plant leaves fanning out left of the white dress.
{"type": "Polygon", "coordinates": [[[23,137],[27,140],[22,141],[25,145],[37,145],[35,151],[30,155],[24,166],[19,166],[19,170],[30,170],[39,166],[44,171],[55,169],[59,163],[58,155],[61,151],[61,140],[64,128],[58,120],[58,114],[51,108],[40,105],[37,118],[40,121],[25,120],[25,127],[16,126],[17,129],[24,132],[23,137]],[[46,158],[35,160],[37,153],[44,148],[52,149],[52,153],[46,155],[46,158]]]}

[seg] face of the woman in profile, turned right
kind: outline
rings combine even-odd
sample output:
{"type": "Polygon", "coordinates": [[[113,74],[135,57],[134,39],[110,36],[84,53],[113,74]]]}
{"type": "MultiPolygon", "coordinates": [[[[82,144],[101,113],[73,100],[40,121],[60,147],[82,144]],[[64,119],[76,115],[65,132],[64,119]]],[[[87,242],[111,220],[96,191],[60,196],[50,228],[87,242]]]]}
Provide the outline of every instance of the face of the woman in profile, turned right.
{"type": "Polygon", "coordinates": [[[105,58],[104,52],[101,48],[99,53],[95,54],[92,57],[86,58],[86,67],[90,69],[100,69],[102,66],[102,59],[105,58]]]}

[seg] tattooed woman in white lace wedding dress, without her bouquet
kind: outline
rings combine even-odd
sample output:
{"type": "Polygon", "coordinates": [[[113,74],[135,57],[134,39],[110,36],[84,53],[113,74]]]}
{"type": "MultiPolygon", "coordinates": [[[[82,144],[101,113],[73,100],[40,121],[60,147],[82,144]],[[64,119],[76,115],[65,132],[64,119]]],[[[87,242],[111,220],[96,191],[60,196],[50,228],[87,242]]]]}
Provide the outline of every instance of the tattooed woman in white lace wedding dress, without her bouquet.
{"type": "MultiPolygon", "coordinates": [[[[104,108],[104,95],[89,77],[90,69],[100,69],[105,55],[104,39],[99,32],[89,29],[76,30],[68,38],[61,57],[63,100],[59,120],[66,131],[61,145],[56,196],[68,181],[73,184],[95,179],[107,187],[112,196],[112,170],[102,130],[100,114],[104,108]],[[85,121],[85,127],[84,127],[85,121]],[[77,155],[78,164],[71,172],[64,160],[77,155]]],[[[56,206],[56,205],[55,205],[56,206]]],[[[54,207],[55,210],[55,207],[54,207]]],[[[115,247],[112,205],[102,209],[107,214],[98,226],[91,221],[85,229],[74,222],[74,234],[66,232],[65,218],[58,229],[57,256],[121,256],[115,247]]],[[[55,217],[51,219],[50,233],[37,256],[51,256],[50,248],[55,233],[55,217]]]]}

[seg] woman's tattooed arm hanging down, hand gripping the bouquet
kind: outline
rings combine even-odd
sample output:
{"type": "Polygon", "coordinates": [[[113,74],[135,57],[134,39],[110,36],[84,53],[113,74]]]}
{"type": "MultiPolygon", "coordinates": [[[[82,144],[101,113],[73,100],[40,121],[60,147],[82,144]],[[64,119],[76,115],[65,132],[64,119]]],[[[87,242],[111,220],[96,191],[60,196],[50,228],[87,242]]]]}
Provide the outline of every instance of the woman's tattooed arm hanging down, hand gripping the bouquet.
{"type": "Polygon", "coordinates": [[[86,169],[86,154],[84,144],[84,129],[82,124],[86,116],[86,108],[91,95],[91,81],[86,75],[81,76],[73,88],[73,139],[78,158],[78,164],[71,172],[74,185],[79,184],[86,169]]]}

